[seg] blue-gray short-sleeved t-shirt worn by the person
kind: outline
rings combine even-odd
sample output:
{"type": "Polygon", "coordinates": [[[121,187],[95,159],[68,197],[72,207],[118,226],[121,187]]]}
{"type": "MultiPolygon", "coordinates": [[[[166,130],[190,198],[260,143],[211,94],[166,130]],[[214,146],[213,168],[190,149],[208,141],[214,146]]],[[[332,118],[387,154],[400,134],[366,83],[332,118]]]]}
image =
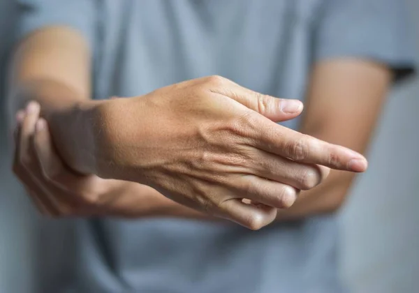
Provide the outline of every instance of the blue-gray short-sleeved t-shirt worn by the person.
{"type": "MultiPolygon", "coordinates": [[[[19,37],[50,24],[85,36],[94,54],[94,98],[139,96],[216,74],[303,100],[311,67],[323,59],[372,59],[397,77],[413,68],[401,1],[18,2],[19,37]]],[[[298,119],[284,125],[297,129],[298,119]]],[[[344,292],[333,215],[258,232],[172,218],[76,225],[74,278],[52,292],[344,292]]]]}

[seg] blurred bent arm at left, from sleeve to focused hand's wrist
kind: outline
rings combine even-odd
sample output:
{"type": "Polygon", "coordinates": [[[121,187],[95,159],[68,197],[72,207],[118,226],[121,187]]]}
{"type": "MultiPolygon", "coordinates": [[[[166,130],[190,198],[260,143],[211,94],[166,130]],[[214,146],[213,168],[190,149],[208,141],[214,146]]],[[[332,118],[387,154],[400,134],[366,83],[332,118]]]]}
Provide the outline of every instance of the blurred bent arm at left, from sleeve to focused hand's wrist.
{"type": "Polygon", "coordinates": [[[66,27],[41,29],[17,47],[8,95],[10,117],[29,100],[40,103],[60,155],[73,170],[84,173],[94,170],[89,139],[94,130],[87,119],[91,115],[85,113],[99,103],[90,100],[90,71],[89,49],[79,33],[66,27]]]}

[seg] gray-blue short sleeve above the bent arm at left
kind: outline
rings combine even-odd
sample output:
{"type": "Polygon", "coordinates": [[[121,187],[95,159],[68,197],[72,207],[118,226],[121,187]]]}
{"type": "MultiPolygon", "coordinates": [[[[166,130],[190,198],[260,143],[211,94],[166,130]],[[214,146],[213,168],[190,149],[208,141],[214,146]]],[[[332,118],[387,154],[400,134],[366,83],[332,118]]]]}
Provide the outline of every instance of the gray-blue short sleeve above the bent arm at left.
{"type": "Polygon", "coordinates": [[[17,40],[51,25],[64,25],[82,33],[93,48],[96,24],[94,0],[18,0],[17,40]]]}

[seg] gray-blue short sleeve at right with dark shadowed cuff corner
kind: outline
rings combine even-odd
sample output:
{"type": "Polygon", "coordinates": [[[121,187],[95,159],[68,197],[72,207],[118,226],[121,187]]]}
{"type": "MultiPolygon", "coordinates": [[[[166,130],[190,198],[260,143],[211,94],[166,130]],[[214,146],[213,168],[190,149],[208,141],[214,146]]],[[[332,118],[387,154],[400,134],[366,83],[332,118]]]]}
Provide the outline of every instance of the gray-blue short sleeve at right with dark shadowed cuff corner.
{"type": "Polygon", "coordinates": [[[415,72],[416,42],[404,1],[330,0],[314,32],[314,61],[364,58],[393,70],[395,80],[415,72]]]}

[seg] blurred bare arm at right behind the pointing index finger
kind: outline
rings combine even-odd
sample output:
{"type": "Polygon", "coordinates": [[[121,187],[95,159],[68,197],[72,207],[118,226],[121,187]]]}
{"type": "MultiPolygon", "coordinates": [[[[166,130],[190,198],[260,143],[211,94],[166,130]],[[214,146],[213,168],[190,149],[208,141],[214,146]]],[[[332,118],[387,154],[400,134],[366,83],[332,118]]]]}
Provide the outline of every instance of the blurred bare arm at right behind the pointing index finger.
{"type": "MultiPolygon", "coordinates": [[[[364,153],[391,82],[388,68],[357,59],[318,63],[309,85],[302,133],[364,153]]],[[[279,210],[277,220],[336,211],[355,174],[332,170],[316,188],[303,191],[295,204],[279,210]]]]}

